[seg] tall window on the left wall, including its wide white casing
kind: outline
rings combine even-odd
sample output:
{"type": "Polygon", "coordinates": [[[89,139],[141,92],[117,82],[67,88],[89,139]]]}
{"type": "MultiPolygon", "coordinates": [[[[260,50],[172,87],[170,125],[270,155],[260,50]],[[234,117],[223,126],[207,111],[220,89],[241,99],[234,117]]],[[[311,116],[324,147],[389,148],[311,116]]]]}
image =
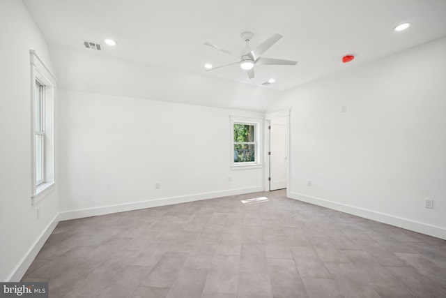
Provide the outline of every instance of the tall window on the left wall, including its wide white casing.
{"type": "Polygon", "coordinates": [[[54,76],[31,50],[31,198],[33,204],[54,185],[54,76]]]}

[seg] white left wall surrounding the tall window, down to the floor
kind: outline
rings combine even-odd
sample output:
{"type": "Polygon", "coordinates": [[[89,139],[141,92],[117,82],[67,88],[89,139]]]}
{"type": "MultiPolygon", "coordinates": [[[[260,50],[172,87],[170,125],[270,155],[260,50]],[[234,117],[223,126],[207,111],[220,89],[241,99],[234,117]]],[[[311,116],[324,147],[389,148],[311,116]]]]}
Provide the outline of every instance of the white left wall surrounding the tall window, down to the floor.
{"type": "Polygon", "coordinates": [[[22,1],[0,1],[0,40],[0,281],[17,281],[59,208],[57,189],[31,206],[29,50],[36,50],[49,67],[51,61],[45,39],[22,1]]]}

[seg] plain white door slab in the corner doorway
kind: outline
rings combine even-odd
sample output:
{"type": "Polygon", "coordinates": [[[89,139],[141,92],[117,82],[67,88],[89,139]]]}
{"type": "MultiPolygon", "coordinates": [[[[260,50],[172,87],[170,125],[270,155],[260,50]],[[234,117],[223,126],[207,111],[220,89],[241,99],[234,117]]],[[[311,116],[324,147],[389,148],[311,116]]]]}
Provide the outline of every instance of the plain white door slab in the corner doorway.
{"type": "Polygon", "coordinates": [[[270,191],[275,191],[286,188],[286,118],[270,123],[270,191]]]}

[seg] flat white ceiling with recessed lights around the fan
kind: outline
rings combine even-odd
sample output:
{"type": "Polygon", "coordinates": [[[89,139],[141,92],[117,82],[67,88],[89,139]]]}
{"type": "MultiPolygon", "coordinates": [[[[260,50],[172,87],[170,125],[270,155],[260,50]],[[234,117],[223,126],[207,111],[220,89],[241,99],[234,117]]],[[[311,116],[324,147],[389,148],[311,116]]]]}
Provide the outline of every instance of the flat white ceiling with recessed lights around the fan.
{"type": "Polygon", "coordinates": [[[103,43],[103,55],[236,82],[289,89],[364,62],[446,36],[445,0],[24,0],[50,44],[82,49],[82,39],[103,43]],[[402,32],[393,27],[412,26],[402,32]],[[297,66],[256,66],[249,80],[238,65],[211,47],[239,52],[243,31],[255,47],[273,33],[284,38],[264,57],[297,60],[297,66]],[[341,57],[355,60],[342,64],[341,57]]]}

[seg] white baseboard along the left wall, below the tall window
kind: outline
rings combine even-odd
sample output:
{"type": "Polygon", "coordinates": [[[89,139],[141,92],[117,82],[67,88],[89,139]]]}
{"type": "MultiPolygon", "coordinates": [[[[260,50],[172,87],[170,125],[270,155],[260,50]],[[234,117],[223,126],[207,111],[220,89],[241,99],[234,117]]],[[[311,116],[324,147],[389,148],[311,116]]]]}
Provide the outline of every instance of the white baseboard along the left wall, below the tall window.
{"type": "Polygon", "coordinates": [[[22,279],[26,270],[28,270],[29,266],[31,266],[31,263],[36,258],[36,255],[39,253],[40,249],[42,249],[43,244],[45,244],[49,235],[56,228],[57,223],[59,223],[59,214],[54,216],[49,225],[47,225],[47,228],[40,234],[40,237],[34,242],[33,246],[31,246],[24,258],[19,262],[19,265],[13,270],[13,274],[9,276],[7,281],[19,282],[22,279]]]}

